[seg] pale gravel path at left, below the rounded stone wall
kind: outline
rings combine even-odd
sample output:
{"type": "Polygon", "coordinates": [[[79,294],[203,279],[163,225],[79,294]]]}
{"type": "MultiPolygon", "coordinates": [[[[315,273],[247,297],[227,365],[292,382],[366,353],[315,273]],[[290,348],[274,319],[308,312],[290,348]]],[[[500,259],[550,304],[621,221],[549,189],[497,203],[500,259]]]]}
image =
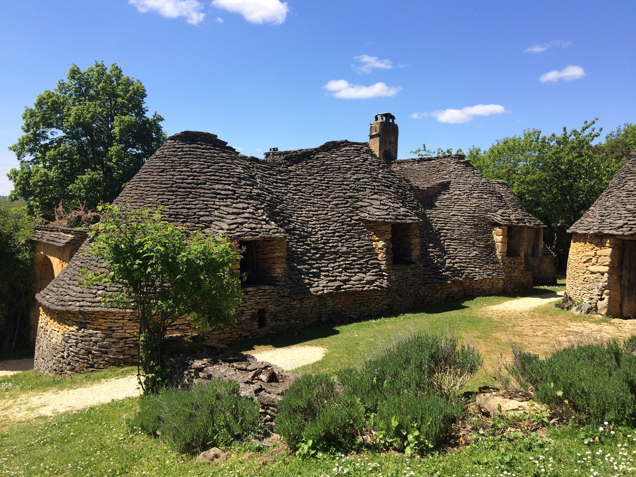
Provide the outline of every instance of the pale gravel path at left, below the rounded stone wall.
{"type": "Polygon", "coordinates": [[[141,394],[136,376],[103,380],[99,384],[62,391],[29,392],[0,401],[0,425],[38,416],[89,408],[141,394]]]}

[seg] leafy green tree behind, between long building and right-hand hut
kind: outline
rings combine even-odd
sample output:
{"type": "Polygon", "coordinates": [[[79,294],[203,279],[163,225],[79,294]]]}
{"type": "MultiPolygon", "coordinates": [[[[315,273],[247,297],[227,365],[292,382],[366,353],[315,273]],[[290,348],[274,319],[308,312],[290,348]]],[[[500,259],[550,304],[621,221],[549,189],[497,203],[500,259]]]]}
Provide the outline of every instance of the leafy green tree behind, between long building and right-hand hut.
{"type": "Polygon", "coordinates": [[[605,190],[625,158],[593,146],[601,131],[593,127],[596,121],[585,121],[580,130],[563,127],[560,135],[525,130],[485,151],[473,147],[467,154],[488,179],[508,181],[523,207],[543,221],[544,241],[555,252],[559,268],[567,263],[567,229],[605,190]]]}

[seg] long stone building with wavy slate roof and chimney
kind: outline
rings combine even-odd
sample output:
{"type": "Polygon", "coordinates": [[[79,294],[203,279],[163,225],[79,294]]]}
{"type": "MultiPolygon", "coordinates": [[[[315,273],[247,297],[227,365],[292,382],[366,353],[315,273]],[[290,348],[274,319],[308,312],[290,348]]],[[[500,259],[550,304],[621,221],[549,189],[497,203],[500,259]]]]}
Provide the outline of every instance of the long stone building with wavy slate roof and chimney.
{"type": "MultiPolygon", "coordinates": [[[[220,232],[245,248],[244,299],[214,342],[361,319],[464,295],[555,282],[543,224],[505,183],[463,155],[396,160],[397,125],[370,142],[332,141],[240,155],[214,134],[184,131],[159,148],[114,204],[162,204],[170,221],[220,232]]],[[[36,368],[66,373],[135,360],[137,326],[104,308],[78,273],[100,266],[83,244],[38,294],[36,368]]],[[[177,322],[172,333],[188,331],[177,322]]]]}

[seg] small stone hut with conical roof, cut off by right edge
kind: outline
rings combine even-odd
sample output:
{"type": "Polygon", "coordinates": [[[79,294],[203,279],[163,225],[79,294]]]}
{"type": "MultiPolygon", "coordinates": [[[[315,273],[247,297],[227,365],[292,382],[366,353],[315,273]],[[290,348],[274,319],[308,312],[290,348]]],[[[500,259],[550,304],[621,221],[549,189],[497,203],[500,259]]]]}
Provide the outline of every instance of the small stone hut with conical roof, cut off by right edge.
{"type": "Polygon", "coordinates": [[[636,316],[636,149],[567,232],[566,293],[576,310],[636,316]]]}

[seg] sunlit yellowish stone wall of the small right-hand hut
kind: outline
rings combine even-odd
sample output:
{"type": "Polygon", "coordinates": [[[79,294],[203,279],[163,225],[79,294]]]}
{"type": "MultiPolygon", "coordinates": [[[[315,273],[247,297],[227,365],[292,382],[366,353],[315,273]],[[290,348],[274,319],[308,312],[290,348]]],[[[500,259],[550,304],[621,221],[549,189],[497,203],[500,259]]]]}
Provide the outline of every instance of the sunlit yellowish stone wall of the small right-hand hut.
{"type": "Polygon", "coordinates": [[[589,304],[601,315],[621,315],[622,252],[617,237],[572,235],[566,292],[574,303],[589,304]]]}

